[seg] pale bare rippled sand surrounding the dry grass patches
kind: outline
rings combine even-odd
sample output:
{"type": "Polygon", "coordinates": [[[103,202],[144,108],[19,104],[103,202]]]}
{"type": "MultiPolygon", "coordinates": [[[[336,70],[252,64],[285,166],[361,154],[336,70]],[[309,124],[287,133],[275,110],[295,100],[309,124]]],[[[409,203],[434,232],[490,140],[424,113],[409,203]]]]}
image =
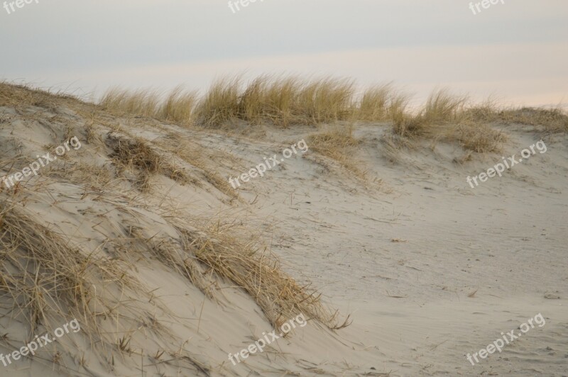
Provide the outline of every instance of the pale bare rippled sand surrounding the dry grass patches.
{"type": "MultiPolygon", "coordinates": [[[[59,145],[72,127],[82,147],[68,152],[65,164],[108,164],[104,148],[85,140],[85,108],[73,101],[0,107],[2,158],[15,150],[33,158],[46,144],[59,145]]],[[[249,135],[226,134],[111,115],[99,115],[93,126],[103,137],[115,124],[163,153],[168,143],[187,142],[207,160],[207,169],[225,179],[313,132],[263,126],[249,135]]],[[[460,164],[454,159],[463,155],[461,148],[442,142],[417,142],[414,149],[391,154],[381,142],[387,132],[384,124],[356,125],[355,135],[363,141],[354,158],[367,171],[366,181],[309,150],[241,186],[236,199],[207,181],[198,167],[187,169],[199,185],[158,174],[152,190],[136,200],[110,189],[89,191],[79,178],[57,174],[58,164],[45,168],[24,184],[26,210],[82,247],[100,249],[121,237],[117,229],[125,224],[136,227],[139,236],[155,237],[152,242],[168,240],[175,233],[168,220],[174,208],[187,216],[219,218],[236,225],[242,237],[262,240],[285,271],[312,283],[331,308],[339,308],[340,317],[351,315],[353,322],[332,331],[309,321],[233,366],[229,352],[236,354],[273,330],[250,296],[222,281],[222,297],[210,300],[160,261],[131,258],[133,276],[153,291],[153,298],[133,303],[139,311],[132,317],[150,313],[168,335],[147,330],[140,319],[109,316],[100,326],[117,341],[131,335],[132,352],[100,353],[85,332],[77,332],[58,339],[57,349],[46,347],[33,358],[0,365],[0,375],[568,375],[567,135],[510,126],[502,154],[476,154],[460,164]],[[541,138],[547,152],[479,187],[466,183],[466,176],[541,138]],[[48,174],[49,169],[54,171],[48,174]],[[538,313],[544,326],[475,366],[466,359],[501,332],[518,332],[538,313]],[[153,355],[159,349],[171,352],[158,361],[153,355]],[[58,364],[52,362],[55,351],[58,364]],[[199,371],[188,355],[207,371],[199,371]]],[[[131,189],[125,182],[113,185],[131,189]]],[[[9,297],[2,296],[1,304],[1,333],[11,340],[0,343],[0,352],[7,354],[24,344],[29,330],[11,311],[9,297]]],[[[61,324],[71,319],[62,315],[61,324]]]]}

